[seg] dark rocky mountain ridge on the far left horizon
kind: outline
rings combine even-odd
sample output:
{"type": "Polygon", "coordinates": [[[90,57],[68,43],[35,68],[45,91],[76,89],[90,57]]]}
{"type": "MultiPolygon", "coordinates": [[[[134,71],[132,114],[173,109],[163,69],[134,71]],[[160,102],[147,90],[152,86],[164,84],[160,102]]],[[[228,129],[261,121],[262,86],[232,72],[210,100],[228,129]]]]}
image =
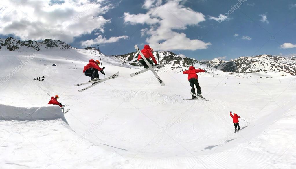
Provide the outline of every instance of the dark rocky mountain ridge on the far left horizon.
{"type": "Polygon", "coordinates": [[[49,51],[49,50],[65,50],[72,49],[73,47],[60,41],[45,39],[44,41],[37,42],[32,40],[20,41],[18,39],[8,37],[0,39],[0,50],[9,51],[49,51]]]}

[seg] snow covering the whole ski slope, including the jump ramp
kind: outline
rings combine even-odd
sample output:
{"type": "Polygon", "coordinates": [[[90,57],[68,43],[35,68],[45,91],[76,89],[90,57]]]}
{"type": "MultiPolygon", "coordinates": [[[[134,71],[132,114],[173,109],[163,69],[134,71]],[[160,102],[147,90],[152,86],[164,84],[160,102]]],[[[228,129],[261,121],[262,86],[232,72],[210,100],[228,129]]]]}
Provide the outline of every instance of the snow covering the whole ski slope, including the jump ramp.
{"type": "Polygon", "coordinates": [[[83,66],[97,54],[0,51],[1,168],[296,167],[295,76],[199,73],[209,101],[184,101],[191,97],[186,75],[159,69],[162,87],[152,72],[130,77],[139,69],[101,57],[106,77],[119,77],[78,92],[84,86],[73,84],[89,80],[83,66]],[[65,117],[46,105],[47,93],[71,109],[65,117]],[[229,111],[250,124],[240,119],[242,130],[233,134],[229,111]]]}

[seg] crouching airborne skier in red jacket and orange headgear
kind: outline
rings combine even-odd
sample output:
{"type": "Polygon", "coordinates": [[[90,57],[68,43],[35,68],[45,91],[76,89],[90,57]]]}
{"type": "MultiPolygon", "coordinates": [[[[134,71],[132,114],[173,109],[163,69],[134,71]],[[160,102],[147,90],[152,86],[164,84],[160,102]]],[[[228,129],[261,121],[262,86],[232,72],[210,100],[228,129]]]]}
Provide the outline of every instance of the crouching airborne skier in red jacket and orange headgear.
{"type": "Polygon", "coordinates": [[[104,72],[105,67],[101,69],[99,65],[100,65],[100,61],[98,60],[94,61],[94,59],[90,59],[89,63],[86,66],[84,66],[83,74],[85,76],[91,77],[90,81],[99,80],[98,71],[100,71],[102,74],[105,74],[104,72]]]}

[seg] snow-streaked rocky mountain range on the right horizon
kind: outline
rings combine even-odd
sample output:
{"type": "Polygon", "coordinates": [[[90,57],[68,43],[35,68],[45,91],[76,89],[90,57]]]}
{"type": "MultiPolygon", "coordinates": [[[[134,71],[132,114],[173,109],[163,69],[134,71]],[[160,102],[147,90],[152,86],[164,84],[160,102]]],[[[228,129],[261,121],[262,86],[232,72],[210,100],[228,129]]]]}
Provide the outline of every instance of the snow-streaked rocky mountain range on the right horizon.
{"type": "Polygon", "coordinates": [[[284,71],[291,75],[296,75],[295,57],[287,58],[265,54],[252,57],[239,57],[232,61],[213,59],[212,61],[205,61],[203,64],[228,72],[284,71]]]}

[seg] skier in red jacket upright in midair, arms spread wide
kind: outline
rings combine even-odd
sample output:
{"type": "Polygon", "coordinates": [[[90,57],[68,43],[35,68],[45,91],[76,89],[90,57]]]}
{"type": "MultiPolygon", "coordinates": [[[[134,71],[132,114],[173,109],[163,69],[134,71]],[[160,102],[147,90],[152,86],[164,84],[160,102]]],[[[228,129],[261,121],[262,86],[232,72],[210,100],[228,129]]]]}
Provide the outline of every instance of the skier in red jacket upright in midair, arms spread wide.
{"type": "MultiPolygon", "coordinates": [[[[197,95],[199,97],[203,98],[202,97],[202,92],[200,90],[200,85],[199,85],[199,82],[197,80],[197,77],[198,77],[197,73],[199,73],[199,72],[207,72],[207,70],[195,69],[193,66],[190,66],[189,70],[183,71],[183,74],[188,74],[188,80],[189,80],[189,83],[190,83],[190,86],[191,86],[191,92],[196,95],[195,88],[194,88],[194,85],[195,85],[196,89],[197,89],[197,95]]],[[[198,98],[196,96],[192,95],[192,99],[198,99],[198,98]]]]}

